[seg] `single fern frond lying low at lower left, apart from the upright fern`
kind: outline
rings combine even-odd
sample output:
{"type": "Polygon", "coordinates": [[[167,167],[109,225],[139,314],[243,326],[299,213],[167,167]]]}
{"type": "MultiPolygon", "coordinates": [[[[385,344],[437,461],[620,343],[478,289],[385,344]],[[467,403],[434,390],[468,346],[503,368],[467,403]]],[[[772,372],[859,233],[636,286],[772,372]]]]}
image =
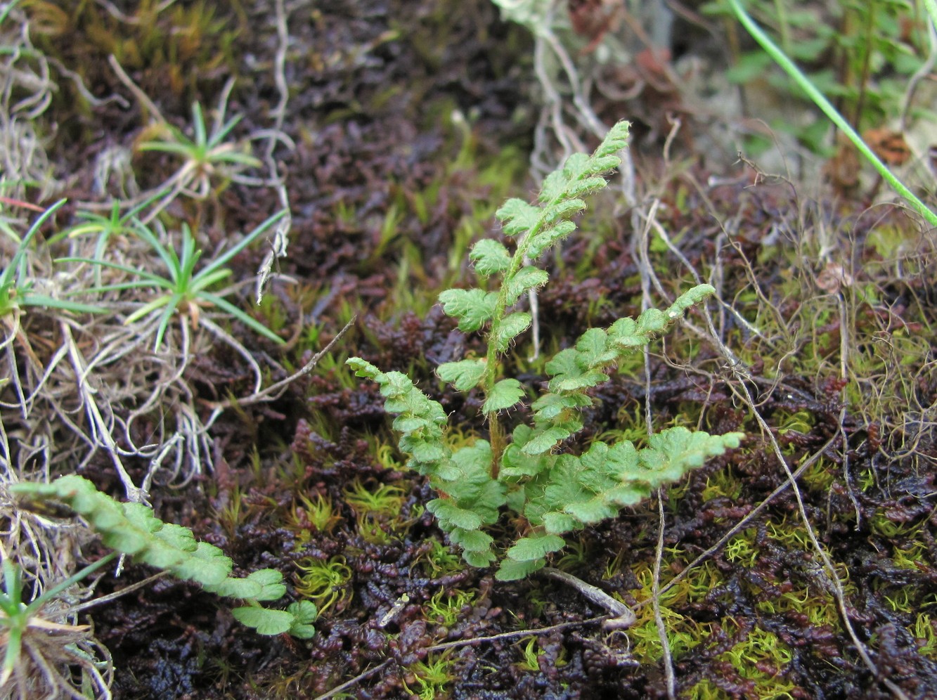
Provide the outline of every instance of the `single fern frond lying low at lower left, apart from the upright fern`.
{"type": "MultiPolygon", "coordinates": [[[[51,484],[11,484],[9,489],[22,499],[62,501],[100,533],[104,544],[121,554],[201,584],[209,592],[244,601],[231,612],[260,634],[290,633],[307,639],[316,632],[312,622],[319,611],[314,603],[290,603],[286,610],[260,605],[260,601],[275,601],[286,594],[282,573],[260,569],[245,578],[231,576],[231,559],[224,552],[214,544],[196,542],[188,528],[164,523],[149,506],[121,503],[74,474],[51,484]]],[[[92,567],[85,572],[90,570],[92,567]]]]}

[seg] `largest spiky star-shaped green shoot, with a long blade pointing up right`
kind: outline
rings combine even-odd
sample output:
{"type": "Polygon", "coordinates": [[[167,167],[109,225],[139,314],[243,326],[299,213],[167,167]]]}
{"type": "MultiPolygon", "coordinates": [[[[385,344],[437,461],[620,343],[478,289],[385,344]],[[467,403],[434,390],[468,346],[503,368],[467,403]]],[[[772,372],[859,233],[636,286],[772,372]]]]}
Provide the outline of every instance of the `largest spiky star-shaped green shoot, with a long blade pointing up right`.
{"type": "Polygon", "coordinates": [[[275,335],[269,328],[265,327],[257,320],[252,319],[237,306],[231,304],[231,302],[224,298],[222,293],[215,293],[209,291],[209,289],[225,277],[231,275],[231,270],[222,267],[222,265],[230,261],[231,258],[244,250],[245,247],[257,240],[261,234],[269,230],[270,227],[283,218],[283,216],[286,216],[286,210],[268,217],[260,226],[254,229],[254,231],[245,235],[237,245],[232,246],[219,255],[214,261],[202,267],[198,273],[195,272],[195,266],[201,258],[201,250],[196,249],[195,238],[192,236],[192,232],[186,224],[183,224],[182,227],[182,249],[177,254],[172,247],[163,246],[156,237],[156,234],[150,231],[148,227],[144,226],[139,221],[135,222],[137,235],[156,251],[156,255],[163,261],[169,276],[158,276],[154,273],[135,270],[127,265],[110,261],[88,258],[63,258],[62,260],[103,265],[115,270],[120,270],[129,275],[140,277],[140,279],[129,282],[102,285],[88,291],[146,289],[150,287],[163,290],[165,293],[160,294],[156,299],[142,305],[125,320],[125,324],[130,324],[162,309],[159,316],[159,325],[156,330],[154,350],[158,350],[159,346],[162,345],[163,336],[166,335],[174,313],[178,311],[179,314],[186,317],[191,322],[192,327],[195,328],[199,325],[201,309],[205,306],[216,306],[227,311],[232,317],[240,320],[248,328],[273,340],[275,343],[282,344],[284,341],[281,337],[275,335]]]}

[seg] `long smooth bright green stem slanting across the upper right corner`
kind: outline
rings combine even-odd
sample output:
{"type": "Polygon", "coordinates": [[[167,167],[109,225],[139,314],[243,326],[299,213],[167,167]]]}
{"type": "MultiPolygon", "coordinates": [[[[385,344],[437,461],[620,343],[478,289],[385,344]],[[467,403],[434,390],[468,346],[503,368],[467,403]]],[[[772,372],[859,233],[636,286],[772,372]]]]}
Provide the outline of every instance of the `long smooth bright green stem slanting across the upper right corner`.
{"type": "MultiPolygon", "coordinates": [[[[853,141],[855,147],[879,172],[880,175],[885,179],[885,181],[891,185],[895,191],[897,191],[901,197],[903,197],[912,207],[917,211],[918,214],[923,216],[930,226],[937,227],[937,214],[934,214],[923,201],[920,201],[914,192],[912,192],[908,187],[904,186],[903,183],[894,175],[892,171],[889,171],[885,163],[879,160],[878,156],[872,153],[872,150],[865,141],[862,141],[862,138],[855,132],[855,129],[849,125],[849,123],[843,119],[840,112],[836,111],[836,108],[830,104],[829,100],[814,87],[813,83],[810,82],[810,79],[805,76],[798,67],[795,66],[794,62],[788,58],[784,52],[781,52],[781,49],[768,37],[761,28],[752,21],[751,17],[742,9],[742,6],[739,5],[738,0],[726,0],[729,4],[729,7],[732,8],[732,11],[735,13],[738,22],[751,34],[751,37],[757,41],[761,47],[767,52],[774,61],[781,66],[784,71],[795,80],[795,82],[800,86],[800,88],[811,97],[814,104],[819,107],[830,121],[835,124],[842,133],[849,137],[850,141],[853,141]]],[[[930,12],[930,17],[937,23],[937,2],[935,0],[925,0],[925,3],[928,7],[928,12],[930,12]]]]}

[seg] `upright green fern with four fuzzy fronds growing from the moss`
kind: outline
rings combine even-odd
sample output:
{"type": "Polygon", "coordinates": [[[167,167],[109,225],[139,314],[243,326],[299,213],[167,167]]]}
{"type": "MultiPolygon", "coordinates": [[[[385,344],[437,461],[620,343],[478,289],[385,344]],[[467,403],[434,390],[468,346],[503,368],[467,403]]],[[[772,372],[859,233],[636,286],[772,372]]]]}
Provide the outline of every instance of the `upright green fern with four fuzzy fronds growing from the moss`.
{"type": "Polygon", "coordinates": [[[640,450],[623,439],[593,442],[583,454],[558,451],[582,429],[581,411],[592,403],[589,390],[607,381],[623,356],[665,333],[690,306],[713,294],[709,285],[686,291],[665,310],[649,308],[636,320],[620,319],[607,329],[588,330],[573,348],[561,350],[546,364],[549,385],[531,404],[533,423],[518,425],[510,439],[501,424],[500,414],[528,395],[520,381],[500,372],[500,359],[531,321],[516,305],[548,278],[526,261],[537,261],[575,230],[571,218],[586,207],[581,198],[605,186],[604,176],[620,162],[616,154],[627,144],[628,127],[627,122],[612,127],[591,156],[568,158],[546,177],[537,203],[512,199],[498,210],[504,233],[515,241],[513,253],[495,240],[479,241],[469,252],[478,276],[495,277],[497,290],[445,290],[439,295],[443,310],[458,320],[462,331],[484,332],[484,357],[439,365],[437,374],[458,391],[481,390],[488,439],[475,439],[453,451],[446,440],[446,413],[437,401],[405,374],[382,372],[359,357],[348,361],[359,377],[378,382],[385,409],[398,414],[393,425],[400,434],[400,449],[409,454],[408,466],[427,475],[439,491],[427,510],[461,547],[469,564],[484,567],[500,559],[500,580],[541,569],[547,555],[565,545],[562,535],[615,517],[661,484],[700,467],[707,457],[737,447],[743,437],[672,427],[653,435],[640,450]],[[496,523],[504,508],[522,516],[520,537],[498,552],[485,529],[496,523]]]}

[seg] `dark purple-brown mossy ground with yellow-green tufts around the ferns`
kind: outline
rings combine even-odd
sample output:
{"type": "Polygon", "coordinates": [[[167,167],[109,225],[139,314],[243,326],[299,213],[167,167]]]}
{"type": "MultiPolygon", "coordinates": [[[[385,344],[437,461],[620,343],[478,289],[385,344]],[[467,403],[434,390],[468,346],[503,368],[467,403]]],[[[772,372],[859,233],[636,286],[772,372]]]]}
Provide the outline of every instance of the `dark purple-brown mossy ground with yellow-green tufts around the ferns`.
{"type": "MultiPolygon", "coordinates": [[[[67,182],[73,201],[99,197],[95,156],[109,145],[131,145],[145,126],[145,111],[108,67],[109,54],[178,127],[189,123],[193,100],[214,105],[231,76],[229,113],[243,115],[239,132],[270,126],[276,28],[268,3],[180,3],[158,16],[156,3],[129,5],[115,8],[144,21],[121,22],[97,3],[24,3],[38,49],[80,66],[93,95],[127,100],[126,107],[90,107],[62,81],[41,117],[52,135],[55,177],[67,182]]],[[[216,421],[213,473],[181,488],[155,488],[152,497],[156,514],[220,546],[236,573],[278,569],[290,596],[324,610],[309,642],[260,637],[215,597],[164,578],[94,612],[97,638],[117,669],[115,697],[315,697],[378,667],[347,693],[665,697],[648,603],[656,501],[571,538],[553,562],[637,606],[632,630],[603,633],[583,622],[603,611],[573,589],[538,576],[497,583],[449,552],[424,511],[433,494],[401,469],[377,388],[344,366],[361,355],[407,371],[439,399],[456,431],[478,430],[478,397],[444,391],[432,374],[478,339],[457,332],[434,304],[439,290],[470,275],[468,245],[492,230],[498,204],[536,186],[527,174],[539,112],[528,35],[499,22],[483,0],[317,2],[293,11],[289,31],[283,129],[295,148],[277,157],[293,221],[279,272],[294,282],[275,282],[254,314],[282,320],[292,340],[279,350],[244,328],[233,332],[261,365],[265,353],[275,357],[265,370],[274,382],[353,315],[357,321],[334,356],[275,401],[228,410],[216,421]],[[455,110],[467,130],[454,123],[455,110]],[[469,639],[482,641],[427,651],[469,639]]],[[[653,137],[655,120],[673,105],[651,97],[638,133],[653,137]]],[[[612,118],[628,117],[633,107],[607,102],[601,111],[612,118]]],[[[680,330],[654,348],[649,391],[640,357],[632,372],[602,387],[584,439],[609,431],[641,439],[648,403],[658,427],[699,424],[749,435],[742,449],[664,495],[661,581],[676,582],[662,589],[660,603],[677,693],[891,696],[856,653],[846,615],[882,678],[908,697],[933,697],[933,233],[920,232],[896,208],[868,210],[859,198],[801,200],[795,186],[747,167],[707,171],[692,140],[675,146],[680,160],[664,163],[660,136],[640,140],[640,171],[659,192],[657,220],[684,260],[660,239],[651,242],[649,260],[668,292],[693,283],[687,263],[716,280],[724,302],[714,307],[718,331],[749,375],[731,379],[716,348],[680,330]],[[732,179],[709,184],[712,174],[732,179]],[[788,479],[740,400],[743,385],[787,463],[811,465],[799,494],[836,562],[844,610],[825,588],[794,489],[774,493],[788,479]]],[[[141,186],[171,174],[171,158],[138,157],[141,186]]],[[[551,282],[540,297],[546,354],[591,326],[641,310],[630,217],[613,216],[609,201],[602,203],[549,263],[551,282]]],[[[208,201],[173,204],[171,216],[198,222],[208,240],[221,241],[276,207],[271,188],[231,184],[208,201]]],[[[236,275],[253,274],[262,254],[239,256],[236,275]]],[[[518,358],[527,356],[519,349],[518,358]]],[[[518,359],[512,369],[531,388],[544,380],[542,360],[518,359]]],[[[250,392],[243,361],[224,345],[196,357],[186,380],[206,415],[207,402],[250,392]]],[[[141,422],[138,429],[150,427],[141,422]]],[[[139,483],[147,465],[130,467],[139,483]]],[[[114,488],[103,457],[83,473],[114,488]]],[[[92,559],[97,550],[91,545],[85,554],[92,559]]],[[[99,589],[149,573],[131,566],[99,589]]]]}

